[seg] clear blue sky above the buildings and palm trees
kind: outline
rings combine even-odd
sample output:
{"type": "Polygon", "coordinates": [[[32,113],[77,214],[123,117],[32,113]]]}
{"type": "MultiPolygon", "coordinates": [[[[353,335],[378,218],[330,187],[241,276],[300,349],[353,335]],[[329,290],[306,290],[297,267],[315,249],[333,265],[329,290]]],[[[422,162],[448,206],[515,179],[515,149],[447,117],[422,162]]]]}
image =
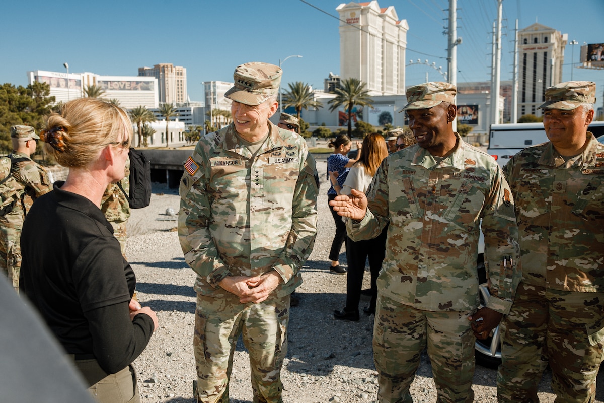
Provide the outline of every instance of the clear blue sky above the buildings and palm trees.
{"type": "MultiPolygon", "coordinates": [[[[231,81],[246,62],[282,63],[283,82],[323,88],[330,72],[339,74],[338,13],[341,1],[328,0],[105,0],[6,1],[0,5],[0,82],[27,85],[29,70],[89,71],[136,76],[141,66],[173,63],[187,68],[191,100],[202,100],[202,82],[231,81]]],[[[496,0],[458,0],[457,81],[490,79],[492,24],[496,0]]],[[[446,71],[448,0],[379,0],[406,19],[407,60],[425,59],[446,71]]],[[[513,29],[533,22],[568,34],[568,40],[604,42],[602,0],[504,0],[501,79],[512,78],[513,29]],[[572,16],[572,18],[571,18],[572,16]]],[[[578,62],[580,45],[574,47],[578,62]]],[[[565,51],[564,80],[571,78],[565,51]]],[[[442,76],[428,66],[406,68],[406,85],[442,76]]],[[[604,70],[577,69],[574,80],[597,83],[604,98],[604,70]]]]}

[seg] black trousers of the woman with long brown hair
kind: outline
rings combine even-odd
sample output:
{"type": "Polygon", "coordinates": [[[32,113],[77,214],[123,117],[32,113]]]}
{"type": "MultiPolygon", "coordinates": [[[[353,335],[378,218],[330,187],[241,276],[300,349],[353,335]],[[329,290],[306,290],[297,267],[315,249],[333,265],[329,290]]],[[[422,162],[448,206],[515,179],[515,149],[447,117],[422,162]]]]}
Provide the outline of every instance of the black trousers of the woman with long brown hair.
{"type": "Polygon", "coordinates": [[[369,260],[371,272],[371,301],[369,309],[374,310],[377,300],[377,276],[382,268],[386,255],[386,234],[388,225],[382,233],[373,239],[355,242],[349,237],[346,239],[346,259],[348,260],[348,274],[346,279],[346,306],[348,312],[358,311],[361,300],[363,276],[365,274],[365,260],[369,260]]]}

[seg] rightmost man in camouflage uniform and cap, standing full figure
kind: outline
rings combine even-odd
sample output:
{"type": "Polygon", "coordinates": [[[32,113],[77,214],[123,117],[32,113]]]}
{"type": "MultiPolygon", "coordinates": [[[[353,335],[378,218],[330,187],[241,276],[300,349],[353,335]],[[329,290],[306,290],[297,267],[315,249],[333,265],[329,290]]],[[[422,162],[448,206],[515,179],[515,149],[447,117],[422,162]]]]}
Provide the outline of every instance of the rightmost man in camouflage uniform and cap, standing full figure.
{"type": "Polygon", "coordinates": [[[604,341],[604,145],[588,132],[596,84],[545,91],[550,141],[504,173],[516,201],[522,282],[502,322],[499,402],[538,402],[547,364],[556,402],[593,402],[604,341]]]}

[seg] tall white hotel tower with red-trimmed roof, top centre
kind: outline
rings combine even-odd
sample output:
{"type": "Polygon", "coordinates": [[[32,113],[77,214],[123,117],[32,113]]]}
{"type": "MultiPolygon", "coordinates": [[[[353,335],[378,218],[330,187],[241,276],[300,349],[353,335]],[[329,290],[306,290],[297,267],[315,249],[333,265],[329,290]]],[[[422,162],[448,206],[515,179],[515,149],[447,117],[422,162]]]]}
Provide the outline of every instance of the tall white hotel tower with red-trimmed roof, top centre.
{"type": "Polygon", "coordinates": [[[340,4],[340,76],[360,79],[370,95],[405,94],[409,25],[377,1],[340,4]]]}

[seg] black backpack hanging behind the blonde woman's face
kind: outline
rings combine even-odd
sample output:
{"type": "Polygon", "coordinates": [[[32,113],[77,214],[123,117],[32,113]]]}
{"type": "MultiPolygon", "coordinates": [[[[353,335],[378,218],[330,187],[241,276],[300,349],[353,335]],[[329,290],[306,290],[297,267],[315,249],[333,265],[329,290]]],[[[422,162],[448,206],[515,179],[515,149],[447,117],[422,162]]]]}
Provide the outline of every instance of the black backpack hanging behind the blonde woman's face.
{"type": "Polygon", "coordinates": [[[151,161],[140,150],[130,148],[130,195],[126,195],[120,182],[117,185],[124,193],[130,208],[147,207],[151,202],[151,161]]]}

